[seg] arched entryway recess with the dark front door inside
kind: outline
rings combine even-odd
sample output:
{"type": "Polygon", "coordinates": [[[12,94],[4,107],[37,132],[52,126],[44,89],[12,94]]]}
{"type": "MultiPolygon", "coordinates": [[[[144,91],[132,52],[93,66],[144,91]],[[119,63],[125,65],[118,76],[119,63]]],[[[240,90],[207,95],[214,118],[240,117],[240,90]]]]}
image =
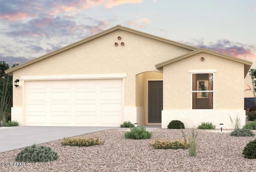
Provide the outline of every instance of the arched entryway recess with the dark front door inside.
{"type": "Polygon", "coordinates": [[[161,125],[163,74],[142,72],[136,75],[137,122],[140,126],[161,125]]]}

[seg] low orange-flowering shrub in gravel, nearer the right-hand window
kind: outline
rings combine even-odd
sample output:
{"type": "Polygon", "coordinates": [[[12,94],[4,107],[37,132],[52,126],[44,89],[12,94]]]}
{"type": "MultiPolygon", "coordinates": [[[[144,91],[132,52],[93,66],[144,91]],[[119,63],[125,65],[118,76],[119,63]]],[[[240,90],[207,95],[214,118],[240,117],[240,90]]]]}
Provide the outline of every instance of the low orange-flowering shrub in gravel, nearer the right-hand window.
{"type": "Polygon", "coordinates": [[[153,146],[155,149],[187,149],[188,141],[181,140],[155,140],[150,143],[150,146],[153,146]]]}

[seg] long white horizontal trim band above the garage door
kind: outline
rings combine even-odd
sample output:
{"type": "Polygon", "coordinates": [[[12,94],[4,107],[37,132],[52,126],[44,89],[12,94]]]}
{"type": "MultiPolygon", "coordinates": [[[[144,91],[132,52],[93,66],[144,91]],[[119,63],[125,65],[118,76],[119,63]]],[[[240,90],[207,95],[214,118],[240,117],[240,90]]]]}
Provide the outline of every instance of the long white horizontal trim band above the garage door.
{"type": "Polygon", "coordinates": [[[21,80],[68,80],[68,79],[106,79],[126,78],[126,74],[84,74],[84,75],[38,75],[20,76],[21,80]]]}

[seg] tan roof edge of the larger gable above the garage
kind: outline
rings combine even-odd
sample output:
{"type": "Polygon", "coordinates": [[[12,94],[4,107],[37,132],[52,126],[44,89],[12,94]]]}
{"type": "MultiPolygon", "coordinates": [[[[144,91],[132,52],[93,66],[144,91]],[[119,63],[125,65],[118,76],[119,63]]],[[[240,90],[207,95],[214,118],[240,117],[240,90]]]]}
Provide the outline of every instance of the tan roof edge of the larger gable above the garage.
{"type": "Polygon", "coordinates": [[[153,40],[158,40],[158,41],[161,41],[161,42],[165,42],[165,43],[168,43],[168,44],[172,44],[172,45],[174,45],[174,46],[186,48],[186,49],[188,49],[188,50],[196,50],[196,49],[198,49],[198,48],[193,47],[193,46],[189,46],[189,45],[186,45],[186,44],[182,44],[182,43],[179,43],[179,42],[175,42],[175,41],[168,40],[168,39],[165,39],[165,38],[161,38],[161,37],[158,37],[158,36],[154,36],[154,35],[151,35],[151,34],[147,34],[147,33],[144,33],[144,32],[140,32],[140,31],[138,31],[138,30],[126,28],[126,27],[124,27],[124,26],[116,25],[116,26],[114,26],[114,27],[112,27],[112,28],[109,28],[109,29],[107,29],[107,30],[104,30],[104,31],[102,31],[102,32],[99,32],[98,34],[94,34],[94,35],[89,36],[89,37],[87,37],[87,38],[84,38],[84,39],[82,39],[82,40],[80,40],[80,41],[78,41],[78,42],[74,42],[73,44],[70,44],[70,45],[68,45],[68,46],[64,46],[64,47],[62,47],[62,48],[60,48],[60,49],[58,49],[58,50],[55,50],[55,51],[53,51],[53,52],[50,52],[50,53],[45,54],[45,55],[43,55],[43,56],[40,56],[40,57],[38,57],[38,58],[36,58],[36,59],[34,59],[34,60],[30,60],[30,61],[28,61],[28,62],[25,62],[25,63],[23,63],[23,64],[21,64],[21,65],[18,65],[18,66],[16,66],[16,67],[14,67],[14,68],[10,68],[10,69],[6,70],[5,73],[6,73],[6,74],[12,74],[12,72],[14,72],[14,71],[16,71],[16,70],[19,70],[19,69],[24,68],[24,67],[26,67],[26,66],[28,66],[28,65],[34,64],[34,63],[36,63],[36,62],[39,62],[39,61],[41,61],[41,60],[44,60],[44,59],[46,59],[46,58],[49,58],[49,57],[51,57],[51,56],[54,56],[54,55],[59,54],[59,53],[61,53],[61,52],[64,52],[64,51],[66,51],[66,50],[69,50],[69,49],[71,49],[71,48],[74,48],[74,47],[76,47],[76,46],[79,46],[79,45],[81,45],[81,44],[84,44],[84,43],[86,43],[86,42],[89,42],[89,41],[91,41],[91,40],[94,40],[94,39],[96,39],[96,38],[99,38],[99,37],[101,37],[101,36],[104,36],[104,35],[106,35],[106,34],[109,34],[109,33],[111,33],[111,32],[114,32],[114,31],[116,31],[116,30],[124,30],[124,31],[126,31],[126,32],[130,32],[130,33],[137,34],[137,35],[140,35],[140,36],[144,36],[144,37],[147,37],[147,38],[150,38],[150,39],[153,39],[153,40]]]}

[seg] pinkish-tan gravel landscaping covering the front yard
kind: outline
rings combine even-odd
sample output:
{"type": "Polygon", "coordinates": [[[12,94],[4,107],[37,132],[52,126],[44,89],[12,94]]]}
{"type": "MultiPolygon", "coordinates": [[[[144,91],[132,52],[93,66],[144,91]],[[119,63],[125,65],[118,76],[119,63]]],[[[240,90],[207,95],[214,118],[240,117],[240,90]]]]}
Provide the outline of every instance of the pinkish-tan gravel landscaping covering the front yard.
{"type": "MultiPolygon", "coordinates": [[[[103,145],[76,147],[61,146],[60,140],[44,143],[60,156],[52,162],[28,163],[28,166],[14,166],[14,158],[21,150],[0,154],[0,162],[12,167],[0,167],[0,172],[252,172],[256,171],[256,159],[243,158],[246,144],[255,137],[232,137],[231,130],[198,130],[198,156],[188,156],[188,150],[160,150],[149,144],[155,139],[181,139],[178,129],[152,130],[152,138],[147,140],[125,139],[126,129],[113,129],[84,134],[99,136],[106,140],[103,145]]],[[[192,129],[183,129],[186,137],[192,129]]],[[[256,130],[252,130],[256,134],[256,130]]],[[[28,145],[31,146],[31,145],[28,145]]]]}

